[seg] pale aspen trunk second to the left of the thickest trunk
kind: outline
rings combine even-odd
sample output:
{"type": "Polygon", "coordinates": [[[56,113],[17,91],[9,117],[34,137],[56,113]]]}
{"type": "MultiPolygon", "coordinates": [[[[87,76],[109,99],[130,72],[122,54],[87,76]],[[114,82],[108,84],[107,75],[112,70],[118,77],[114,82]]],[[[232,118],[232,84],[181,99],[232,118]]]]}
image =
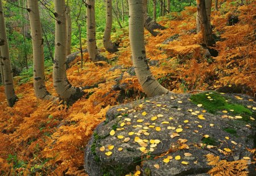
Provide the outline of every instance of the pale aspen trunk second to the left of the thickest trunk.
{"type": "Polygon", "coordinates": [[[98,53],[96,46],[96,26],[95,26],[95,1],[86,0],[88,4],[86,10],[86,31],[87,31],[87,49],[89,53],[90,60],[92,62],[101,61],[101,56],[98,53]]]}

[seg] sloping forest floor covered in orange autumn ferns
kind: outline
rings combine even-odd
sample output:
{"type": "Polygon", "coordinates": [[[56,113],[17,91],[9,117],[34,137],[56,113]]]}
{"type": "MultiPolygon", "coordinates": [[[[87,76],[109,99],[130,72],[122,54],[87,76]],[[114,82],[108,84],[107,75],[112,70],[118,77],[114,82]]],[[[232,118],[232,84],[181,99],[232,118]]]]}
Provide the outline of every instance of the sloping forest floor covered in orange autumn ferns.
{"type": "MultiPolygon", "coordinates": [[[[219,11],[212,12],[219,53],[214,58],[201,46],[202,35],[195,32],[195,16],[196,7],[187,7],[161,18],[159,23],[167,29],[159,31],[158,36],[145,32],[146,54],[155,78],[176,93],[224,87],[224,91],[236,89],[254,96],[256,2],[238,6],[227,1],[219,11]],[[238,23],[229,20],[234,16],[238,16],[238,23]],[[175,40],[163,44],[170,37],[175,40]]],[[[100,83],[97,88],[86,90],[85,96],[72,106],[37,100],[32,78],[19,85],[22,76],[17,76],[15,92],[19,101],[9,108],[4,88],[0,87],[0,175],[85,175],[84,149],[94,128],[105,120],[106,111],[144,96],[136,76],[130,73],[127,28],[113,33],[113,41],[120,38],[121,48],[117,53],[100,49],[109,62],[95,65],[85,53],[82,69],[80,57],[71,63],[67,75],[72,85],[100,83]],[[117,69],[110,69],[113,67],[117,69]],[[113,90],[117,80],[125,85],[123,92],[113,90]],[[120,96],[125,99],[118,102],[123,99],[120,96]]],[[[52,67],[46,68],[46,84],[49,92],[56,95],[51,70],[52,67]]]]}

